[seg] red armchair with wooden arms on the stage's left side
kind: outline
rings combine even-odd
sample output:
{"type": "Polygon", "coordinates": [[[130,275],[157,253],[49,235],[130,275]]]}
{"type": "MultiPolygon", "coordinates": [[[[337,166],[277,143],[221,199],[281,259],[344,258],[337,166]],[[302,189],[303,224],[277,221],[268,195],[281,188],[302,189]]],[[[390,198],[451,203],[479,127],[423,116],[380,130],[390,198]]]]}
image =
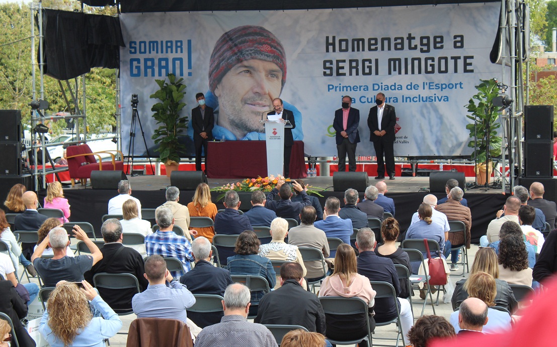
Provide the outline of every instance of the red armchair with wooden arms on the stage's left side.
{"type": "MultiPolygon", "coordinates": [[[[91,178],[91,171],[94,170],[124,171],[124,162],[115,160],[114,154],[110,152],[118,152],[122,155],[120,151],[91,152],[91,148],[86,143],[67,147],[66,158],[71,185],[75,185],[76,179],[80,180],[81,184],[85,184],[87,179],[91,178]],[[101,154],[110,155],[111,160],[105,158],[103,161],[101,154]]],[[[124,156],[122,155],[122,157],[124,156]]]]}

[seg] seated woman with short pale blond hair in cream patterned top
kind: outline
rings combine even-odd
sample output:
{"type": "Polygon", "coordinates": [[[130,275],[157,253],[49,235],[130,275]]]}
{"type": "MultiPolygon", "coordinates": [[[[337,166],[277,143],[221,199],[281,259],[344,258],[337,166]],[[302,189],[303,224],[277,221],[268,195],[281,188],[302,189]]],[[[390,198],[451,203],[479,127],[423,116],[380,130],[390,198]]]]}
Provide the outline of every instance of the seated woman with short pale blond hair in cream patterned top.
{"type": "MultiPolygon", "coordinates": [[[[304,260],[302,260],[302,255],[298,246],[287,244],[284,239],[288,235],[288,222],[280,217],[275,218],[271,223],[271,237],[270,243],[261,245],[259,247],[259,255],[267,257],[271,260],[281,260],[281,261],[294,261],[301,265],[304,274],[302,277],[306,276],[306,267],[304,266],[304,260]]],[[[276,272],[276,271],[275,271],[276,272]]],[[[281,286],[280,274],[276,274],[276,285],[275,289],[281,286]]],[[[305,281],[304,281],[305,287],[305,281]]]]}

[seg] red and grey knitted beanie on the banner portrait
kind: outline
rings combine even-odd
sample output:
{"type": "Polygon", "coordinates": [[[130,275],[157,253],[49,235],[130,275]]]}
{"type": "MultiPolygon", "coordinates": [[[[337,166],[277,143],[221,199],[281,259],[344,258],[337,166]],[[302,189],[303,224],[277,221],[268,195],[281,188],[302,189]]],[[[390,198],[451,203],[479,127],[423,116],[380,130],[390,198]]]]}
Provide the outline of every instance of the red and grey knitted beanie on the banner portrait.
{"type": "Polygon", "coordinates": [[[226,73],[238,63],[257,59],[275,63],[286,81],[286,56],[282,43],[263,27],[241,26],[222,34],[214,44],[209,63],[209,89],[215,88],[226,73]]]}

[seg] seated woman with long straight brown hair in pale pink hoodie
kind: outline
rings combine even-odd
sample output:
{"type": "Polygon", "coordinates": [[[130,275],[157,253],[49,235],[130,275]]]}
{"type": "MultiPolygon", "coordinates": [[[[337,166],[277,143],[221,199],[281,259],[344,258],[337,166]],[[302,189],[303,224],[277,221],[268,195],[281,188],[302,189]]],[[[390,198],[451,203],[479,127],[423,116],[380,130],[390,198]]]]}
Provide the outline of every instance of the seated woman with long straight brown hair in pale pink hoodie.
{"type": "MultiPolygon", "coordinates": [[[[319,296],[342,296],[343,298],[360,298],[368,304],[368,314],[364,315],[326,315],[327,336],[335,340],[348,340],[368,334],[367,320],[371,331],[375,329],[373,308],[375,290],[366,276],[358,274],[356,253],[350,245],[342,244],[336,250],[335,270],[321,283],[319,296]],[[348,319],[348,320],[347,320],[348,319]]],[[[360,345],[365,345],[361,343],[360,345]]]]}

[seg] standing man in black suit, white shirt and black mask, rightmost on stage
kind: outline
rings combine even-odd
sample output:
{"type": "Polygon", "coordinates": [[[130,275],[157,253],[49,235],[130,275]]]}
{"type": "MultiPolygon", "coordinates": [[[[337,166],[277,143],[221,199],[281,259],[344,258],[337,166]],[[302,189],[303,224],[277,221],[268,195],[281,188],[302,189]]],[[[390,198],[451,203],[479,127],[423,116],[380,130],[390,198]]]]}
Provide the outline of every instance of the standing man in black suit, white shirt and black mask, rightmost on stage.
{"type": "Polygon", "coordinates": [[[394,180],[394,125],[397,123],[397,113],[394,106],[385,103],[385,95],[379,93],[375,96],[375,103],[369,110],[368,127],[369,141],[373,142],[377,156],[376,180],[385,178],[385,166],[390,180],[394,180]],[[385,161],[383,162],[383,154],[385,161]]]}

